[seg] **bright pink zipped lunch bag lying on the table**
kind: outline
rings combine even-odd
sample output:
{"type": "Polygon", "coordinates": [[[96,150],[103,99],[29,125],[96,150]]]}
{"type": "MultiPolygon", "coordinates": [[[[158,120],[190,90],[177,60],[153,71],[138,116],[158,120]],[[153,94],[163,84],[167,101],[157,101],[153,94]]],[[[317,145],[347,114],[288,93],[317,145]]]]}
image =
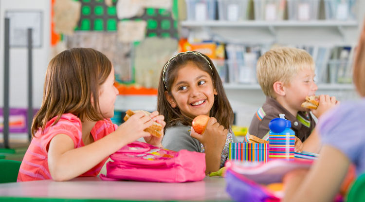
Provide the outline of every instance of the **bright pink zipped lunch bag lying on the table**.
{"type": "Polygon", "coordinates": [[[205,177],[205,154],[172,151],[135,141],[110,155],[102,180],[181,183],[205,177]]]}

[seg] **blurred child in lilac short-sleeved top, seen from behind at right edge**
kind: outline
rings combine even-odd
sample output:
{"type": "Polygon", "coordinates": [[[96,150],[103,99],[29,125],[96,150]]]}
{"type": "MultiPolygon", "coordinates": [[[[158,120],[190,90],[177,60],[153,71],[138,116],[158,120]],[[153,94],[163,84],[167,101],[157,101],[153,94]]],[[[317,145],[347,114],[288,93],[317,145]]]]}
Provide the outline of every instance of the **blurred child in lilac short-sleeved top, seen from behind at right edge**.
{"type": "Polygon", "coordinates": [[[284,178],[286,202],[333,201],[350,163],[356,175],[365,173],[365,26],[354,61],[353,81],[362,97],[343,103],[318,121],[323,143],[319,159],[306,170],[292,171],[284,178]]]}

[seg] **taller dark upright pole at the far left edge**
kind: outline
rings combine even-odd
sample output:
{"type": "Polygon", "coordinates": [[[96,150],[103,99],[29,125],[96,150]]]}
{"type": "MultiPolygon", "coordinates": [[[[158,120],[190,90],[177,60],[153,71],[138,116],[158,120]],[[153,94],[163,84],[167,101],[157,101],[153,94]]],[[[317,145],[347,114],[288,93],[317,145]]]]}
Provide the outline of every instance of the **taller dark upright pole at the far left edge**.
{"type": "Polygon", "coordinates": [[[9,148],[9,24],[10,19],[5,18],[5,29],[4,29],[4,144],[5,148],[9,148]]]}

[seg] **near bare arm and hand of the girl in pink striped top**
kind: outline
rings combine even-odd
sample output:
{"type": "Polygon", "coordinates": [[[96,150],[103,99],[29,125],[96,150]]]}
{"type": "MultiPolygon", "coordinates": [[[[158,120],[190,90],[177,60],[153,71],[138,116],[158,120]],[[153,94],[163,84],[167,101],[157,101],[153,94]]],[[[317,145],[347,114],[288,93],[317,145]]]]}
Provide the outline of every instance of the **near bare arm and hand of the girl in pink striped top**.
{"type": "Polygon", "coordinates": [[[79,148],[74,148],[68,135],[55,135],[48,149],[48,166],[52,179],[66,181],[85,173],[121,147],[140,137],[149,136],[150,134],[143,130],[151,125],[151,118],[139,112],[114,132],[79,148]]]}

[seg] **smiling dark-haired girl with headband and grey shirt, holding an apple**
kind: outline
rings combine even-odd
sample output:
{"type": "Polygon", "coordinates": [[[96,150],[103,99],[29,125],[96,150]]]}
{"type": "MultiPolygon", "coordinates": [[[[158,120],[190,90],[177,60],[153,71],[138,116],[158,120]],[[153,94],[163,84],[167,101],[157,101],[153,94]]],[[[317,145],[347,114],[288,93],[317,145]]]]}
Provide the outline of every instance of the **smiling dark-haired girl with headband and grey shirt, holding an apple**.
{"type": "Polygon", "coordinates": [[[167,61],[161,72],[157,110],[166,120],[165,148],[205,152],[207,174],[224,166],[228,143],[237,142],[231,130],[233,110],[208,56],[187,51],[167,61]],[[204,133],[198,134],[191,124],[201,114],[211,118],[204,133]]]}

